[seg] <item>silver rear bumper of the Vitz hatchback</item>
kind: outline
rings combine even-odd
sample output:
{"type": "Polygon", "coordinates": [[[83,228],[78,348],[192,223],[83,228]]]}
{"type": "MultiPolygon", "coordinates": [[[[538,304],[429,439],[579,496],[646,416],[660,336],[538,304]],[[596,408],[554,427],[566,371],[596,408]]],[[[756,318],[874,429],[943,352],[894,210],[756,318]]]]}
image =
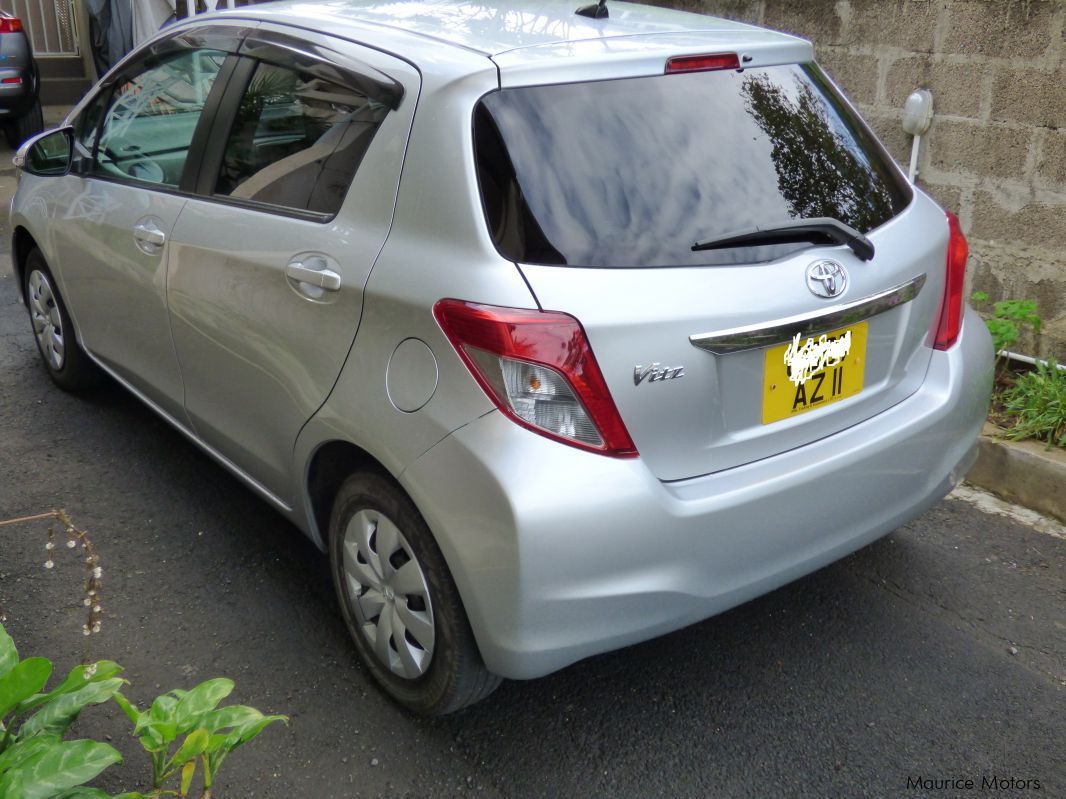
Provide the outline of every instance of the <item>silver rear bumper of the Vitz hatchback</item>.
{"type": "Polygon", "coordinates": [[[664,484],[640,459],[560,445],[492,412],[401,480],[488,668],[535,678],[722,613],[921,513],[973,463],[991,370],[968,310],[918,392],[755,463],[664,484]]]}

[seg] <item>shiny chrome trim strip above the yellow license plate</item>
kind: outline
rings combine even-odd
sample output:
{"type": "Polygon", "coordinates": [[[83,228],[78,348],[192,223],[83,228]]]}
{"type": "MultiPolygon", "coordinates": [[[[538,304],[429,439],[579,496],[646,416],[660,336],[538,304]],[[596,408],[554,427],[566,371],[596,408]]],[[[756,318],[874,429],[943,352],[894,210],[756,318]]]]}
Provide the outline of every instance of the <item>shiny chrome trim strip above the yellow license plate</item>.
{"type": "Polygon", "coordinates": [[[802,313],[796,316],[774,320],[761,325],[731,327],[728,330],[713,330],[706,333],[695,333],[689,337],[694,347],[706,349],[715,355],[740,353],[744,349],[758,349],[791,341],[800,333],[806,338],[814,333],[826,332],[838,327],[853,325],[856,322],[876,316],[890,311],[918,296],[925,284],[925,275],[919,275],[905,283],[900,283],[854,303],[834,306],[824,311],[802,313]]]}

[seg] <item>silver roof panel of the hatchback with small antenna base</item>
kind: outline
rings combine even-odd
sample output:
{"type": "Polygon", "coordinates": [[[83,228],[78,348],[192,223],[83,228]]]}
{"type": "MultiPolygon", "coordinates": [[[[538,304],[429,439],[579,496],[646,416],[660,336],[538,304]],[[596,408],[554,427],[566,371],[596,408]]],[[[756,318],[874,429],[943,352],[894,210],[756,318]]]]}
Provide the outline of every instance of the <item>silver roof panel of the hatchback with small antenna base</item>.
{"type": "MultiPolygon", "coordinates": [[[[392,29],[410,37],[464,48],[489,58],[504,52],[558,47],[575,43],[661,34],[709,33],[715,40],[795,44],[797,39],[742,22],[636,3],[608,3],[607,19],[592,19],[576,10],[595,0],[537,0],[491,4],[465,0],[285,0],[255,6],[254,16],[342,35],[367,25],[392,29]],[[344,28],[352,30],[345,31],[344,28]]],[[[237,12],[246,15],[249,9],[237,12]]],[[[231,12],[232,13],[232,12],[231,12]]]]}

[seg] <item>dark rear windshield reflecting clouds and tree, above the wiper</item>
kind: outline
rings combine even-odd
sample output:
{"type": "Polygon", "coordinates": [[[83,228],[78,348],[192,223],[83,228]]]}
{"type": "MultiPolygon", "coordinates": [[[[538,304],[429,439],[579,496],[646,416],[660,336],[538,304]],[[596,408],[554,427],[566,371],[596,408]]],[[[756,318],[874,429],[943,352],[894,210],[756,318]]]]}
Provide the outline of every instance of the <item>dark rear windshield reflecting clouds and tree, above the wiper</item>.
{"type": "Polygon", "coordinates": [[[522,263],[768,261],[810,245],[692,245],[814,216],[868,232],[911,196],[813,64],[505,88],[474,142],[488,227],[522,263]]]}

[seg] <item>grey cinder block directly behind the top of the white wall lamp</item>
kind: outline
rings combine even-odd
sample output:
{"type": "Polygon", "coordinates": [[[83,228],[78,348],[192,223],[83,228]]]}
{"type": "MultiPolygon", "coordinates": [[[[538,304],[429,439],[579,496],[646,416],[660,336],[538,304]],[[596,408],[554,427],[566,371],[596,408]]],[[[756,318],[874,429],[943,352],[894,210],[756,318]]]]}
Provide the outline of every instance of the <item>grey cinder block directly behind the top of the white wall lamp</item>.
{"type": "Polygon", "coordinates": [[[947,64],[928,55],[899,59],[888,68],[888,102],[903,108],[916,88],[933,93],[937,114],[976,117],[981,113],[981,81],[989,67],[984,64],[947,64]]]}

